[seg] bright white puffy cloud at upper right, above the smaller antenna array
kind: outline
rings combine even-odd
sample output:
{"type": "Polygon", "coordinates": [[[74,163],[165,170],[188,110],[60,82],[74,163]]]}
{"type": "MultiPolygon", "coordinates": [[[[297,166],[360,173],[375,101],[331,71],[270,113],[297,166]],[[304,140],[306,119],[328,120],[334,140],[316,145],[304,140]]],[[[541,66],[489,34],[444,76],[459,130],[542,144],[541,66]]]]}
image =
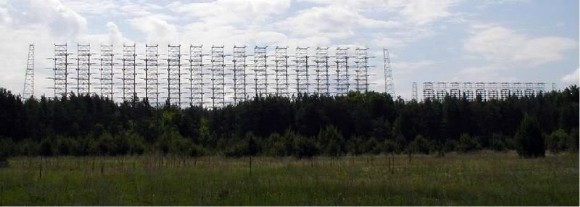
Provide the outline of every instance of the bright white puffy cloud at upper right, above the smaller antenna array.
{"type": "Polygon", "coordinates": [[[577,42],[562,37],[532,38],[497,25],[475,25],[464,42],[468,52],[505,64],[540,65],[563,58],[577,42]]]}

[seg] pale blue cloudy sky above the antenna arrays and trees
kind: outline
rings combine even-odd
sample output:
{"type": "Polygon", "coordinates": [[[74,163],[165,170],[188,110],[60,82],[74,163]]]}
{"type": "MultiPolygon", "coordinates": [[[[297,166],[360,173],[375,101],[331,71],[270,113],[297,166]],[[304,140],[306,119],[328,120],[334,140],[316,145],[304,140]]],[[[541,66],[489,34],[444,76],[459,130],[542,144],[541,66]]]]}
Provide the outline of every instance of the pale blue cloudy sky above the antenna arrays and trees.
{"type": "MultiPolygon", "coordinates": [[[[53,44],[368,47],[370,89],[412,82],[578,84],[577,0],[0,0],[0,87],[22,93],[35,44],[35,95],[52,96],[53,44]]],[[[229,48],[229,49],[228,49],[229,48]]],[[[116,49],[120,50],[120,49],[116,49]]],[[[311,51],[313,53],[314,51],[311,51]]],[[[351,51],[352,52],[352,51],[351,51]]],[[[252,51],[248,51],[249,54],[252,51]]],[[[420,89],[419,89],[420,91],[420,89]]]]}

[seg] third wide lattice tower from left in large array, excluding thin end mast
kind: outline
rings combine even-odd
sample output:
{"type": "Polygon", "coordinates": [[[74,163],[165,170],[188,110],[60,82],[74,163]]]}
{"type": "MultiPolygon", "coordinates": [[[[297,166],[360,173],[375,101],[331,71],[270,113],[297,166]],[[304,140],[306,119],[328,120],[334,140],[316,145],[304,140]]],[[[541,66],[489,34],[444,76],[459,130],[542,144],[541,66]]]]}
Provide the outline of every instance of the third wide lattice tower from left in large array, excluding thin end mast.
{"type": "Polygon", "coordinates": [[[101,68],[99,69],[101,72],[101,76],[99,77],[101,86],[101,96],[106,96],[109,99],[114,99],[114,53],[113,53],[113,45],[101,45],[101,68]]]}

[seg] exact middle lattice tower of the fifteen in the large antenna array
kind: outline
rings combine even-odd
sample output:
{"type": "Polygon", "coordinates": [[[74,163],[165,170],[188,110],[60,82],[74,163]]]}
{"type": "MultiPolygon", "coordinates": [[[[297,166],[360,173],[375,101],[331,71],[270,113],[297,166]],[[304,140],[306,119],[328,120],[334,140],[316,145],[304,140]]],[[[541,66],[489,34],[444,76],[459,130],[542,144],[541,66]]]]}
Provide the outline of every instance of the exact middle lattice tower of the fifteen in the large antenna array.
{"type": "Polygon", "coordinates": [[[225,106],[225,64],[224,47],[211,47],[211,106],[225,106]],[[217,103],[217,105],[216,105],[217,103]]]}

